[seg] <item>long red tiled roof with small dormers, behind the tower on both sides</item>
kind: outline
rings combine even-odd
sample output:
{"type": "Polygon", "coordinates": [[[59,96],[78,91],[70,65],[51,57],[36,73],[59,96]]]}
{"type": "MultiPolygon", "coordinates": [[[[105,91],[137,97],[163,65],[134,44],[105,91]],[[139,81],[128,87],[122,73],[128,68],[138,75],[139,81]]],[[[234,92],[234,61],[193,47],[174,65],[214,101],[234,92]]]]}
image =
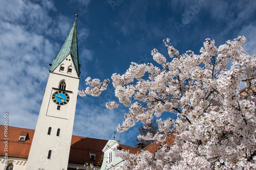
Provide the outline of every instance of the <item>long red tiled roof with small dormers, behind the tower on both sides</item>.
{"type": "MultiPolygon", "coordinates": [[[[7,137],[4,137],[3,125],[0,125],[0,131],[2,132],[0,133],[0,155],[5,155],[4,141],[8,140],[8,156],[28,158],[35,130],[9,126],[7,137]],[[27,134],[27,137],[24,142],[18,141],[19,135],[21,134],[27,134]]],[[[79,164],[88,162],[97,165],[101,159],[101,156],[104,155],[102,149],[105,147],[106,142],[108,142],[108,140],[73,135],[71,139],[69,162],[79,164]],[[92,154],[96,154],[95,161],[90,160],[90,152],[92,154]]],[[[100,165],[101,163],[102,161],[100,162],[100,165]]]]}

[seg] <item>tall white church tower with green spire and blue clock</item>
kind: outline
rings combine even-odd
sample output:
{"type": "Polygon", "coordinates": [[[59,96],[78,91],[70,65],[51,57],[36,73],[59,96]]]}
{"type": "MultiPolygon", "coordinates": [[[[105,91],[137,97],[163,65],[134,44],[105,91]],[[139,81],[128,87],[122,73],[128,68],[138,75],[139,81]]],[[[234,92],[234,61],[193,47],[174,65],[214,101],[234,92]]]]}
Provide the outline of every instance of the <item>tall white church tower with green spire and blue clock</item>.
{"type": "Polygon", "coordinates": [[[80,79],[76,20],[50,66],[49,79],[26,165],[27,170],[68,169],[80,79]]]}

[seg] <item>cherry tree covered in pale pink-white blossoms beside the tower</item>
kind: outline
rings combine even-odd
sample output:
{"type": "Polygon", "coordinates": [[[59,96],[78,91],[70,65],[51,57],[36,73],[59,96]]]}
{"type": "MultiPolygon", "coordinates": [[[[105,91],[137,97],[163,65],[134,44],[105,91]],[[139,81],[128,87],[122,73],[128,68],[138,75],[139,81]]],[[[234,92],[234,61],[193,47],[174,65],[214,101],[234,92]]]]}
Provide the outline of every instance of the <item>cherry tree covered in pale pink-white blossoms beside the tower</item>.
{"type": "Polygon", "coordinates": [[[238,37],[216,47],[214,40],[206,39],[199,55],[192,51],[179,55],[166,39],[169,59],[152,51],[158,66],[133,62],[125,74],[113,74],[112,80],[87,78],[91,87],[78,93],[98,96],[112,83],[118,101],[106,107],[129,107],[118,132],[138,121],[151,123],[156,116],[158,133],[138,138],[162,142],[175,136],[174,144],[163,143],[156,154],[116,151],[127,169],[256,169],[256,58],[244,51],[245,41],[238,37]],[[162,120],[163,112],[177,118],[162,120]]]}

